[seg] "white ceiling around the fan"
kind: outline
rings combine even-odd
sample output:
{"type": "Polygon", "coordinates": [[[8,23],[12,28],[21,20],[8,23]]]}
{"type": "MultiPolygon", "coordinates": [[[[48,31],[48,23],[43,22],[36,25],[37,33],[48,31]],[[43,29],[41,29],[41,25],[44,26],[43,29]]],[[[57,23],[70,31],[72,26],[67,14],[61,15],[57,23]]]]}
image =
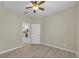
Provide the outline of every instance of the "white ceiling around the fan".
{"type": "Polygon", "coordinates": [[[45,8],[45,11],[37,10],[36,13],[33,13],[32,9],[25,9],[27,6],[31,6],[32,4],[29,1],[7,1],[3,2],[3,4],[12,10],[24,13],[25,15],[31,17],[42,17],[47,16],[63,9],[67,9],[70,7],[74,7],[77,3],[72,1],[46,1],[41,6],[45,8]]]}

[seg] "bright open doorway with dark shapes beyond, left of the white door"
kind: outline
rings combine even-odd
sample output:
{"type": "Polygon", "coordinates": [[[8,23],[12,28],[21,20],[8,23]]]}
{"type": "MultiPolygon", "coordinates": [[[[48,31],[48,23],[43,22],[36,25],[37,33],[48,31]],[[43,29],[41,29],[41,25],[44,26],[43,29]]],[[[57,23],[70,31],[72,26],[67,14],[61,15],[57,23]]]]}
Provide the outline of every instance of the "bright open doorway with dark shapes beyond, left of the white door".
{"type": "Polygon", "coordinates": [[[30,44],[30,24],[22,23],[22,43],[30,44]]]}

